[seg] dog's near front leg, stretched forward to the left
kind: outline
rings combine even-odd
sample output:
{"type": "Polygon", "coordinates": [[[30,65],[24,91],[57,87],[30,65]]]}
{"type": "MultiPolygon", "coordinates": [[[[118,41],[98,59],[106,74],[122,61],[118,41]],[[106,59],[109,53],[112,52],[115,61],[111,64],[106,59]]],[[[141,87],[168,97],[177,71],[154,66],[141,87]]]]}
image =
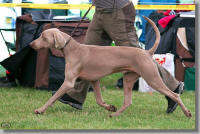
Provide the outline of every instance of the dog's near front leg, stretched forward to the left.
{"type": "Polygon", "coordinates": [[[77,79],[77,75],[78,74],[78,71],[74,70],[74,69],[70,69],[68,65],[66,65],[66,68],[65,69],[65,81],[64,83],[62,84],[62,86],[58,89],[58,91],[47,101],[46,104],[44,104],[42,107],[38,108],[35,110],[35,113],[36,114],[41,114],[41,113],[44,113],[45,110],[49,107],[49,106],[52,106],[53,103],[59,99],[60,97],[62,97],[66,92],[67,90],[71,89],[74,87],[74,84],[75,84],[75,81],[77,79]],[[76,72],[76,73],[74,73],[76,72]]]}

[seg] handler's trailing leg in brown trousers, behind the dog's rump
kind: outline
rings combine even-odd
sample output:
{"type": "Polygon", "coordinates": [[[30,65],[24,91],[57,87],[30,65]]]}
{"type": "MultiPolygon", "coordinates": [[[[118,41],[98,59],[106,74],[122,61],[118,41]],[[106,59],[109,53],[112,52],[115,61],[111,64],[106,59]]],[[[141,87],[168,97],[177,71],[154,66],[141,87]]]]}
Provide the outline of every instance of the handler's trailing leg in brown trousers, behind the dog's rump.
{"type": "MultiPolygon", "coordinates": [[[[133,4],[130,4],[115,11],[113,13],[112,20],[109,22],[110,24],[104,25],[104,27],[116,45],[141,48],[139,46],[138,37],[133,25],[134,21],[135,9],[133,8],[133,4]]],[[[166,86],[171,91],[181,94],[183,84],[177,81],[165,68],[157,63],[156,65],[166,86]]],[[[168,97],[166,98],[168,100],[168,108],[166,112],[172,113],[176,109],[177,103],[168,97]]]]}

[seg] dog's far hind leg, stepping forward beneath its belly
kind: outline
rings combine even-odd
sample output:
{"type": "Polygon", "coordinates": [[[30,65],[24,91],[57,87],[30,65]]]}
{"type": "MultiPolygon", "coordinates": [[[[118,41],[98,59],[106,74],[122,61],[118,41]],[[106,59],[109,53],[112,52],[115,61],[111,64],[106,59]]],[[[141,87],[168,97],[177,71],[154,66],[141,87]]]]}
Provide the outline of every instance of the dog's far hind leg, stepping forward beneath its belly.
{"type": "Polygon", "coordinates": [[[133,72],[124,73],[123,76],[124,104],[117,112],[112,113],[110,117],[120,115],[120,113],[122,113],[124,110],[126,110],[127,107],[129,107],[132,104],[132,88],[138,78],[139,75],[136,73],[133,72]]]}

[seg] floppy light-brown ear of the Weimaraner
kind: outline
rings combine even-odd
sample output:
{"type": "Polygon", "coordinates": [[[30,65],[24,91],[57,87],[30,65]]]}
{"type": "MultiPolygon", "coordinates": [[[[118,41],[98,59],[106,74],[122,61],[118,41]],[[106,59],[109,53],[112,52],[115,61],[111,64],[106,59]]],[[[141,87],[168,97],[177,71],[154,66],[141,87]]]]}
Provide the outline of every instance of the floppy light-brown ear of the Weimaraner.
{"type": "Polygon", "coordinates": [[[54,32],[53,36],[54,36],[55,48],[57,48],[57,49],[63,48],[65,46],[65,42],[66,42],[67,39],[64,38],[61,31],[56,30],[54,32]]]}

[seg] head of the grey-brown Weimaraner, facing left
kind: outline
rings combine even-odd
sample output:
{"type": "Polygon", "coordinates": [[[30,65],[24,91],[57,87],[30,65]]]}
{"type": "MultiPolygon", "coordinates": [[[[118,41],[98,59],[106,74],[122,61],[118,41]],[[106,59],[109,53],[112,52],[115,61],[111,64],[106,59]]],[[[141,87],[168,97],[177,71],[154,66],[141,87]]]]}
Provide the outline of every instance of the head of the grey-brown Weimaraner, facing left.
{"type": "Polygon", "coordinates": [[[56,48],[62,49],[69,43],[71,36],[61,32],[57,28],[43,31],[39,38],[30,43],[33,49],[56,48]]]}

